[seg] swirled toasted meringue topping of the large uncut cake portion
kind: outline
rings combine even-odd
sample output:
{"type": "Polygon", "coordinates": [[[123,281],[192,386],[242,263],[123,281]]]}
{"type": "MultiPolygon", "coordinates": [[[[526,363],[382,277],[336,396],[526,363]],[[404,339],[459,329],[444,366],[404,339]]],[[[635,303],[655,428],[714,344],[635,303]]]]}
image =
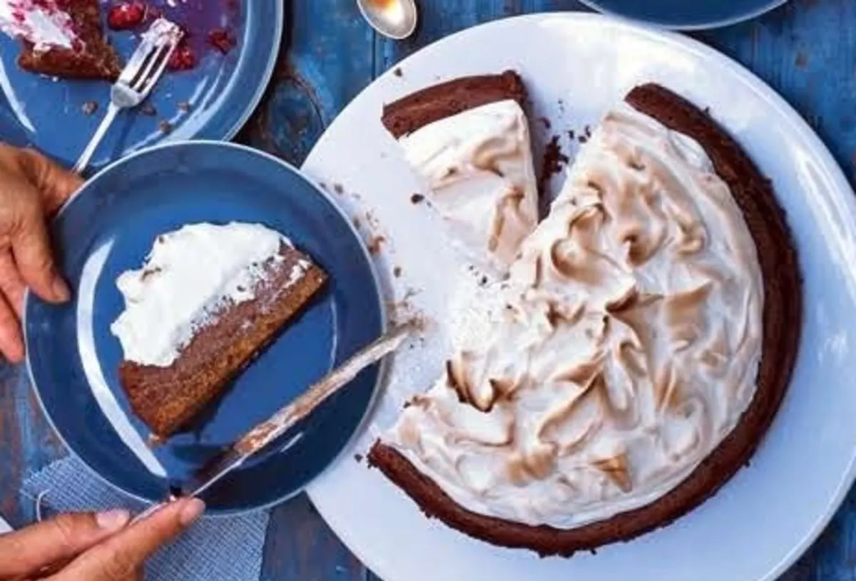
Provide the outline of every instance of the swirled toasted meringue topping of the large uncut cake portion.
{"type": "Polygon", "coordinates": [[[752,237],[701,147],[626,105],[496,293],[485,332],[453,337],[430,403],[383,437],[476,513],[574,528],[645,506],[752,400],[752,237]]]}

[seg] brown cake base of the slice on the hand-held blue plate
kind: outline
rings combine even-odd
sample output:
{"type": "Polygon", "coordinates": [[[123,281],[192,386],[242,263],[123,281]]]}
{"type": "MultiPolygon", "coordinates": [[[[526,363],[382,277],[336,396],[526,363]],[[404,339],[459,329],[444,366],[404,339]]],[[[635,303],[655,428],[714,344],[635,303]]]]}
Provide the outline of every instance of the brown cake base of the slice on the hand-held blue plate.
{"type": "Polygon", "coordinates": [[[283,246],[283,260],[256,289],[256,297],[231,305],[200,329],[169,367],[124,361],[119,369],[131,409],[158,440],[181,430],[217,398],[277,332],[324,285],[327,275],[312,264],[288,286],[294,265],[306,256],[283,246]]]}

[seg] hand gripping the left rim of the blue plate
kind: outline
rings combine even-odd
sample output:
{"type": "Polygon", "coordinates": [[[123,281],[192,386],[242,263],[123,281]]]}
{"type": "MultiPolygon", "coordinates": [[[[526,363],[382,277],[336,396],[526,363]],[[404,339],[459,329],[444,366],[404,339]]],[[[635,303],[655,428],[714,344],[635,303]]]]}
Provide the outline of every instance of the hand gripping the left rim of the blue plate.
{"type": "Polygon", "coordinates": [[[0,352],[24,359],[24,290],[53,303],[68,300],[56,271],[46,218],[80,187],[80,177],[33,150],[0,144],[0,352]]]}

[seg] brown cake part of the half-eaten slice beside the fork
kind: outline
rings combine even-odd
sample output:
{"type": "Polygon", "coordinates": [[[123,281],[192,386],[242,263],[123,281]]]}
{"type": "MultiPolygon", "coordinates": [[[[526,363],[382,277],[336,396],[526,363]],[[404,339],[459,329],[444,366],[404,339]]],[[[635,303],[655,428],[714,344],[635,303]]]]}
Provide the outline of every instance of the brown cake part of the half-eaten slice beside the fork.
{"type": "Polygon", "coordinates": [[[31,73],[61,79],[115,81],[122,72],[116,51],[104,39],[98,0],[58,0],[74,22],[81,45],[73,49],[36,50],[24,42],[18,66],[31,73]]]}

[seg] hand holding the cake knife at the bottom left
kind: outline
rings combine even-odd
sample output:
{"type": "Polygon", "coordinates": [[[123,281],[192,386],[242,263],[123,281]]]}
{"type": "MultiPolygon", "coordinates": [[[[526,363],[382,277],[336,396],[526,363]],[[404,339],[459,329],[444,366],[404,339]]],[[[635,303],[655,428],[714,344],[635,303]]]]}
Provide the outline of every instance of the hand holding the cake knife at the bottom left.
{"type": "Polygon", "coordinates": [[[0,581],[138,581],[146,560],[204,510],[181,499],[130,526],[124,510],[61,514],[0,536],[0,581]]]}

